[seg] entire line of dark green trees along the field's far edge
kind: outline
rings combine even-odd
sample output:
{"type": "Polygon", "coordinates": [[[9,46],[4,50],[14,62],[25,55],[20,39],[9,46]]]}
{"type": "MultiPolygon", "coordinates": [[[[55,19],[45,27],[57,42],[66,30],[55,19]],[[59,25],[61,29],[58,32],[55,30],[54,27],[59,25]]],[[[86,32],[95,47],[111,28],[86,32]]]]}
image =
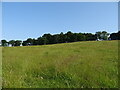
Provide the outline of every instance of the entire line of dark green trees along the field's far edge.
{"type": "Polygon", "coordinates": [[[44,34],[37,39],[28,38],[27,40],[1,40],[1,46],[32,46],[32,45],[46,45],[57,43],[68,43],[77,41],[94,41],[94,40],[120,40],[120,31],[117,33],[107,33],[106,31],[98,31],[95,34],[92,33],[73,33],[68,31],[67,33],[61,32],[60,34],[44,34]]]}

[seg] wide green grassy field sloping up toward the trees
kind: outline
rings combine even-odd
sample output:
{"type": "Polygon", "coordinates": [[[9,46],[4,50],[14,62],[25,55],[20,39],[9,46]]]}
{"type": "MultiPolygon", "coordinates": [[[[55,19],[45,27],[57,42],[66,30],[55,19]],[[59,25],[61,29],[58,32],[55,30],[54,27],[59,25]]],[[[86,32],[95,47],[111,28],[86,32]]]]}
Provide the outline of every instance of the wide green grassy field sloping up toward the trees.
{"type": "Polygon", "coordinates": [[[3,47],[4,88],[116,88],[118,41],[3,47]]]}

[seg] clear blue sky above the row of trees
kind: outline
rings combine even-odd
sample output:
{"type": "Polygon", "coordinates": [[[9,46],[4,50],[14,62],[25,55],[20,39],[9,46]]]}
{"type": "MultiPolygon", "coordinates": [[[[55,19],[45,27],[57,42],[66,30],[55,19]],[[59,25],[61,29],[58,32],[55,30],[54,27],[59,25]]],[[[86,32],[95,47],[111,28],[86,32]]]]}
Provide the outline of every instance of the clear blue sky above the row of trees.
{"type": "Polygon", "coordinates": [[[2,39],[25,40],[45,33],[118,30],[117,2],[4,2],[2,39]]]}

